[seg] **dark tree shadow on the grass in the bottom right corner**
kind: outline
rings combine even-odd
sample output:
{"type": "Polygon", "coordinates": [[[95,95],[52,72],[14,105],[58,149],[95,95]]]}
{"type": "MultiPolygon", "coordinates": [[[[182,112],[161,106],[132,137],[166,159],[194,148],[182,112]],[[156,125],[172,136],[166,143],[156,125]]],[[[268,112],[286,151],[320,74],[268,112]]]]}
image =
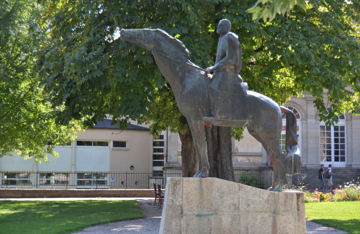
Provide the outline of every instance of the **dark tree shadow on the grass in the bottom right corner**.
{"type": "Polygon", "coordinates": [[[337,219],[312,219],[309,220],[328,227],[348,232],[349,234],[360,234],[360,219],[337,220],[337,219]]]}

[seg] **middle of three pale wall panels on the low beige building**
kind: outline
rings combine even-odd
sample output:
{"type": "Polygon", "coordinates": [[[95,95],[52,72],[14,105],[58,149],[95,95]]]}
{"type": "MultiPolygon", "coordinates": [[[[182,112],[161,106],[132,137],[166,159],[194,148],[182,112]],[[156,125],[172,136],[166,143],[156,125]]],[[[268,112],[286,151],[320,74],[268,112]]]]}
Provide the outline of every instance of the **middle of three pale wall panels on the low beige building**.
{"type": "Polygon", "coordinates": [[[71,171],[71,146],[55,146],[60,157],[47,155],[50,161],[37,164],[37,171],[71,171]]]}

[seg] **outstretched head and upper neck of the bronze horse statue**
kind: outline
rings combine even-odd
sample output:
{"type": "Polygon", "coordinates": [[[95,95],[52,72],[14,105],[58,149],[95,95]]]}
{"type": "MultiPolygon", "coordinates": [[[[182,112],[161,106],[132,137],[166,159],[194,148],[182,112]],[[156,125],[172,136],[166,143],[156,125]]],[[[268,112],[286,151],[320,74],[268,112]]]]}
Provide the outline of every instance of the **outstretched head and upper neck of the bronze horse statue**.
{"type": "Polygon", "coordinates": [[[189,51],[182,42],[160,29],[122,29],[120,39],[151,50],[153,53],[165,54],[183,62],[189,60],[189,51]]]}

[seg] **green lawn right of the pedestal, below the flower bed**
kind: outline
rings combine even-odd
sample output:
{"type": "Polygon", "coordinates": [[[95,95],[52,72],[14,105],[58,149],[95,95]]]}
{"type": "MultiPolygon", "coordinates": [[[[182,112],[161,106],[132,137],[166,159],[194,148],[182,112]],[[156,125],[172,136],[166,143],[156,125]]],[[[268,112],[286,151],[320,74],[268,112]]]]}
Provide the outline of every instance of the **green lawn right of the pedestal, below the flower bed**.
{"type": "Polygon", "coordinates": [[[360,201],[305,203],[306,220],[360,234],[360,201]]]}

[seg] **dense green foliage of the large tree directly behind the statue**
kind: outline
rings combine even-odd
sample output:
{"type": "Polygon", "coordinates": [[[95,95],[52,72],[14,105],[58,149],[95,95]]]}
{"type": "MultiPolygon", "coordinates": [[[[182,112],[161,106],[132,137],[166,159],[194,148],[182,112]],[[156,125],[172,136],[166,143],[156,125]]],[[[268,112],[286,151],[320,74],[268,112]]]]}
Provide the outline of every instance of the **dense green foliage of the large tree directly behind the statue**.
{"type": "MultiPolygon", "coordinates": [[[[360,114],[360,3],[309,0],[271,22],[252,21],[254,0],[39,0],[50,39],[41,44],[39,71],[58,121],[87,116],[88,126],[105,114],[156,121],[153,132],[184,127],[170,85],[151,52],[117,39],[121,28],[160,28],[179,38],[190,59],[214,64],[221,18],[243,46],[240,75],[249,88],[285,103],[309,92],[321,120],[346,110],[360,114]],[[352,88],[350,90],[349,88],[352,88]],[[328,101],[324,103],[324,90],[328,101]],[[332,112],[326,115],[326,107],[332,112]],[[162,128],[162,129],[159,129],[162,128]]],[[[336,121],[336,120],[335,120],[336,121]]]]}

